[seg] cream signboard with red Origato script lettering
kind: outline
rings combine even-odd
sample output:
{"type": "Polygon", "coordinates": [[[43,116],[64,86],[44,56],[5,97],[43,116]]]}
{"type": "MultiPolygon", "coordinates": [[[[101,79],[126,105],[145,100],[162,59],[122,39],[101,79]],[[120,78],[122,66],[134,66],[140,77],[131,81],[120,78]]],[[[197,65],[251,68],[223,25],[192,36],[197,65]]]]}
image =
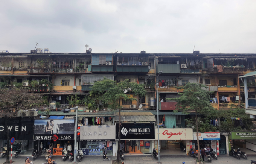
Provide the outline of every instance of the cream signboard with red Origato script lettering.
{"type": "MultiPolygon", "coordinates": [[[[155,131],[157,139],[157,131],[155,131]]],[[[192,128],[159,128],[159,140],[193,140],[192,128]]]]}

